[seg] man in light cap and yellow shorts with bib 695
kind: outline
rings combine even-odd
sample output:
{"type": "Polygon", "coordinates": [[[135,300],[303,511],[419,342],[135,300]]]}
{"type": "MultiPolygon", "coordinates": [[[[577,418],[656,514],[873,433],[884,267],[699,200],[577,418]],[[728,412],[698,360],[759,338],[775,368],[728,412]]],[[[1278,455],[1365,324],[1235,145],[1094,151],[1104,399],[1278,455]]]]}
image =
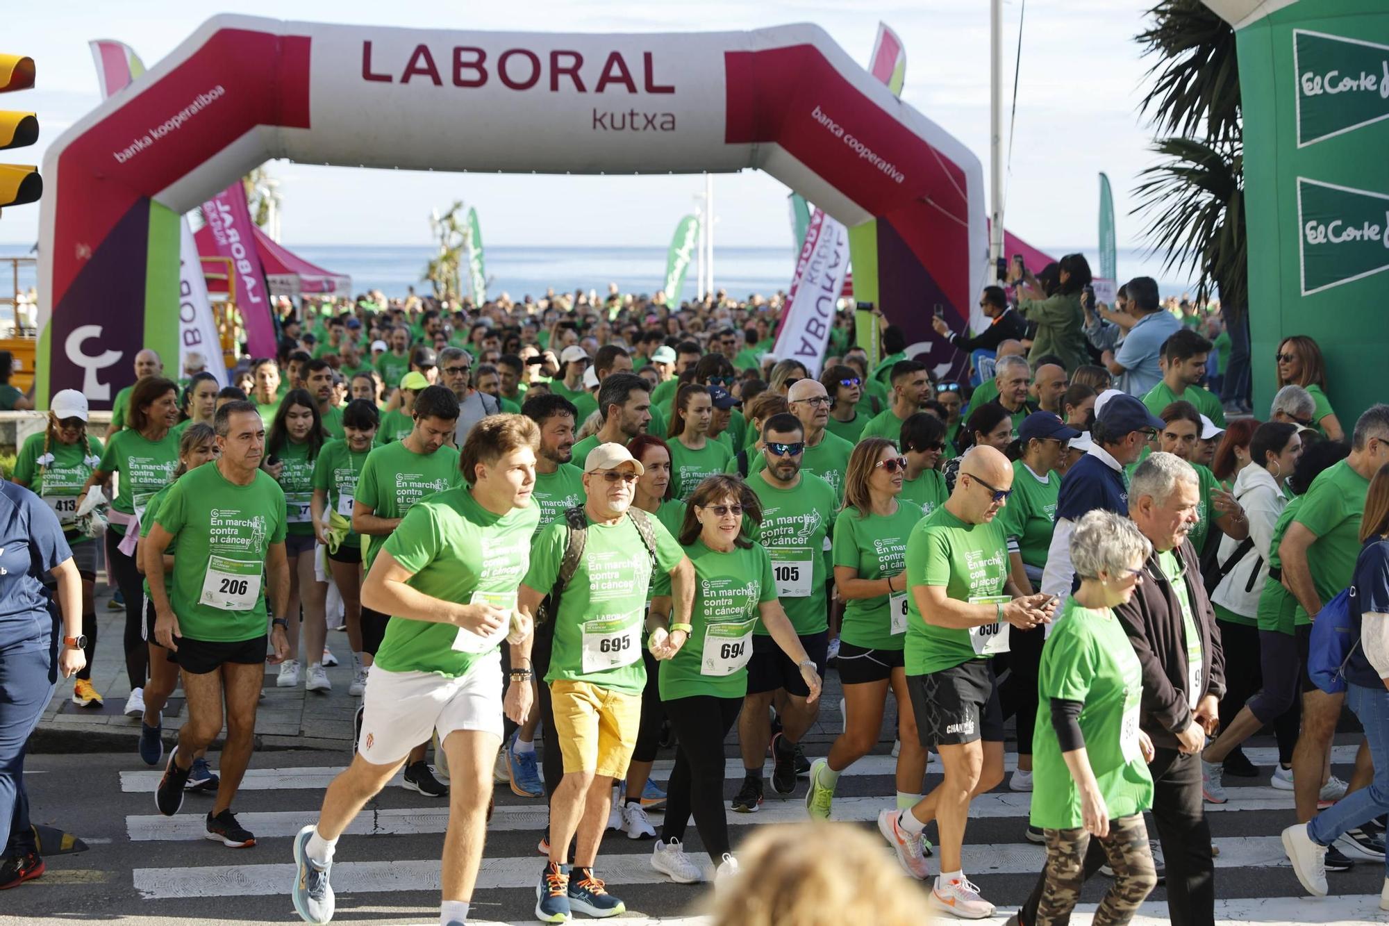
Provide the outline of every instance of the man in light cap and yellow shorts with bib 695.
{"type": "MultiPolygon", "coordinates": [[[[593,875],[608,819],[614,781],[626,779],[642,720],[642,623],[654,569],[669,573],[675,626],[689,624],[694,567],[664,526],[632,510],[642,464],[621,444],[600,444],[585,464],[583,556],[565,584],[554,615],[550,685],[554,733],[564,756],[564,779],[550,798],[550,861],[540,875],[535,915],[543,923],[568,922],[572,911],[615,916],[626,905],[593,875]],[[650,528],[643,537],[638,519],[650,528]],[[654,563],[653,563],[654,560],[654,563]],[[574,870],[565,863],[578,834],[574,870]]],[[[560,577],[571,527],[565,520],[542,531],[519,608],[535,615],[560,577]]],[[[651,651],[668,658],[665,647],[651,651]]]]}

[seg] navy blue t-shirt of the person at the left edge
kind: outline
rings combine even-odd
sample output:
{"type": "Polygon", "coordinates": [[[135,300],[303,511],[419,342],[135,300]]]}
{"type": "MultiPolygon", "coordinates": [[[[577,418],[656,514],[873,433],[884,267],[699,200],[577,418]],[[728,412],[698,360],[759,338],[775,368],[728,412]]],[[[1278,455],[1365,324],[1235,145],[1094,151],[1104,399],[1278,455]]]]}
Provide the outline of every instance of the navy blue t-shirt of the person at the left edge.
{"type": "Polygon", "coordinates": [[[43,577],[68,559],[53,509],[29,489],[0,482],[0,648],[49,648],[53,617],[43,577]]]}

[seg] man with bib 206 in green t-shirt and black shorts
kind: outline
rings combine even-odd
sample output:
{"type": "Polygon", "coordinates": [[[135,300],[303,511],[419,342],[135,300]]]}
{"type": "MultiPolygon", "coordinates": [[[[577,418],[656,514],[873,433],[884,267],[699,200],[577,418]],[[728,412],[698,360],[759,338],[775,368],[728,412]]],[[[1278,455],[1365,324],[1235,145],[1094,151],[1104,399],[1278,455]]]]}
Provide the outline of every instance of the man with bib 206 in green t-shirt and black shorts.
{"type": "Polygon", "coordinates": [[[271,631],[275,655],[265,655],[261,590],[268,577],[274,612],[283,615],[289,605],[285,492],[260,470],[265,427],[254,405],[228,402],[217,410],[213,428],[221,455],[174,484],[144,538],[154,638],[182,669],[188,699],[188,722],[154,802],[165,816],[178,813],[193,756],[221,733],[225,704],[221,783],[207,815],[207,838],[242,848],[256,845],[256,837],[232,816],[232,799],[251,758],[265,662],[279,663],[289,655],[283,617],[275,617],[271,631]],[[164,588],[164,551],[175,538],[171,599],[164,588]]]}

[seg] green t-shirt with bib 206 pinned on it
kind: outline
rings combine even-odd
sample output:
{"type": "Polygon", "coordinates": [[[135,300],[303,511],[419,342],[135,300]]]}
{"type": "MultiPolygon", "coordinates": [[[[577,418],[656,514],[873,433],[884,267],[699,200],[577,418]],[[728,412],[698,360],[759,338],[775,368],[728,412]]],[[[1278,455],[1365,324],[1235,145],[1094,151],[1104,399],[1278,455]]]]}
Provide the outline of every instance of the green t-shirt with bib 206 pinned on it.
{"type": "Polygon", "coordinates": [[[285,542],[275,480],[257,470],[250,485],[236,485],[217,463],[200,466],[174,484],[157,523],[178,541],[171,603],[181,634],[207,642],[265,635],[265,558],[285,542]]]}

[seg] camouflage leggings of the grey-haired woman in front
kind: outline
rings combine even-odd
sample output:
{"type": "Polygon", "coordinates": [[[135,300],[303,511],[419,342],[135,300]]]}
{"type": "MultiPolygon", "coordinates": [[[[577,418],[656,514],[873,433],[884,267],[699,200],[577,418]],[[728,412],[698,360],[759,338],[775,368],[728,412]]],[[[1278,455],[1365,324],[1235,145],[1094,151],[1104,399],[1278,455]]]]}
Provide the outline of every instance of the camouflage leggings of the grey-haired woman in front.
{"type": "MultiPolygon", "coordinates": [[[[1065,922],[1065,918],[1081,900],[1085,884],[1085,850],[1090,834],[1083,829],[1043,830],[1046,833],[1046,887],[1038,902],[1035,926],[1050,926],[1065,922]]],[[[1157,872],[1153,869],[1153,852],[1147,845],[1147,827],[1143,815],[1124,816],[1110,820],[1110,834],[1100,838],[1100,848],[1114,869],[1114,884],[1110,886],[1100,908],[1095,911],[1093,926],[1126,923],[1157,886],[1157,872]]]]}

